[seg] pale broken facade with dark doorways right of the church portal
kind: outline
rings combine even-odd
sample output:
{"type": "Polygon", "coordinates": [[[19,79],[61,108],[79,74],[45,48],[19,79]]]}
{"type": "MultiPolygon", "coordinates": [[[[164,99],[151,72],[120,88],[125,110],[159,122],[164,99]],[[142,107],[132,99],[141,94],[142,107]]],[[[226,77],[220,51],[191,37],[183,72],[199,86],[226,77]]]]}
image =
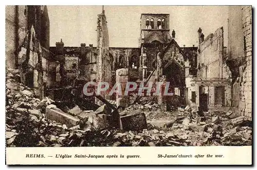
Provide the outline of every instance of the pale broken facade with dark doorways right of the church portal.
{"type": "Polygon", "coordinates": [[[223,27],[206,39],[198,29],[196,75],[186,78],[187,103],[196,110],[228,109],[231,101],[231,73],[224,60],[223,27]]]}

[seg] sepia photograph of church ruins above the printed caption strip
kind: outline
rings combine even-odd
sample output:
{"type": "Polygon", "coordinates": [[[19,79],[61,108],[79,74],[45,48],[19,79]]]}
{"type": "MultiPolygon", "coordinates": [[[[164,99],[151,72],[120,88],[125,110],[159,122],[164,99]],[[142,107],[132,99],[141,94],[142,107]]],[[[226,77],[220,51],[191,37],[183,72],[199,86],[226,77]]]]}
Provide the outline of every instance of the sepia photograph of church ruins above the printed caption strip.
{"type": "Polygon", "coordinates": [[[7,148],[252,145],[250,5],[7,5],[5,29],[7,148]]]}

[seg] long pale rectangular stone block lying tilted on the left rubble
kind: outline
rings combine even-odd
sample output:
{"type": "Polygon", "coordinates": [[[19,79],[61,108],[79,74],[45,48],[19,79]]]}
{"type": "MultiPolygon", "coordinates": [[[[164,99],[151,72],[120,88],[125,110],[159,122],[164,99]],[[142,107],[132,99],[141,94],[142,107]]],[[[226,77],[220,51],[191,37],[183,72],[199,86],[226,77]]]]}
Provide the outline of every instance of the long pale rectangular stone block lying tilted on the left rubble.
{"type": "Polygon", "coordinates": [[[46,107],[46,119],[65,124],[68,128],[78,125],[79,119],[66,114],[56,105],[50,104],[46,107]]]}

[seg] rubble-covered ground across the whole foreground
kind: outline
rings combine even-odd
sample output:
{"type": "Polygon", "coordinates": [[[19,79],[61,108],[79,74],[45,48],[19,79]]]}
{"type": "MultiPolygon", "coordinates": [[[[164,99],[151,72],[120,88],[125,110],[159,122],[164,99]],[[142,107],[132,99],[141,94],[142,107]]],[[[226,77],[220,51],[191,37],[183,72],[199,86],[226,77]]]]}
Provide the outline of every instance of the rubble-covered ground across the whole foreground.
{"type": "MultiPolygon", "coordinates": [[[[142,98],[123,112],[140,110],[146,117],[148,128],[122,131],[108,125],[104,105],[95,111],[67,106],[61,110],[52,104],[54,101],[50,98],[42,101],[34,98],[33,90],[20,83],[19,70],[8,69],[6,78],[7,147],[252,144],[252,122],[244,116],[236,117],[231,111],[199,113],[187,106],[179,107],[177,111],[161,112],[152,100],[142,98]],[[67,124],[54,121],[55,117],[47,116],[54,110],[69,114],[72,119],[67,118],[67,124]]],[[[115,104],[114,101],[110,103],[115,104]]]]}

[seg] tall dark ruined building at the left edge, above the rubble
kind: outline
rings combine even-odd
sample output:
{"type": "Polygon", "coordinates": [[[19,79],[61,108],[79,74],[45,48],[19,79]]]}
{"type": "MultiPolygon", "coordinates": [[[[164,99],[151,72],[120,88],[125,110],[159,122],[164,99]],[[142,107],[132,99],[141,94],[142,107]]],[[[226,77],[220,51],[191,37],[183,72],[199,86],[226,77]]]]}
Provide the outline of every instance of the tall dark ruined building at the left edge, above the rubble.
{"type": "Polygon", "coordinates": [[[56,65],[47,7],[6,6],[6,68],[20,69],[21,82],[42,99],[56,81],[56,65]]]}

